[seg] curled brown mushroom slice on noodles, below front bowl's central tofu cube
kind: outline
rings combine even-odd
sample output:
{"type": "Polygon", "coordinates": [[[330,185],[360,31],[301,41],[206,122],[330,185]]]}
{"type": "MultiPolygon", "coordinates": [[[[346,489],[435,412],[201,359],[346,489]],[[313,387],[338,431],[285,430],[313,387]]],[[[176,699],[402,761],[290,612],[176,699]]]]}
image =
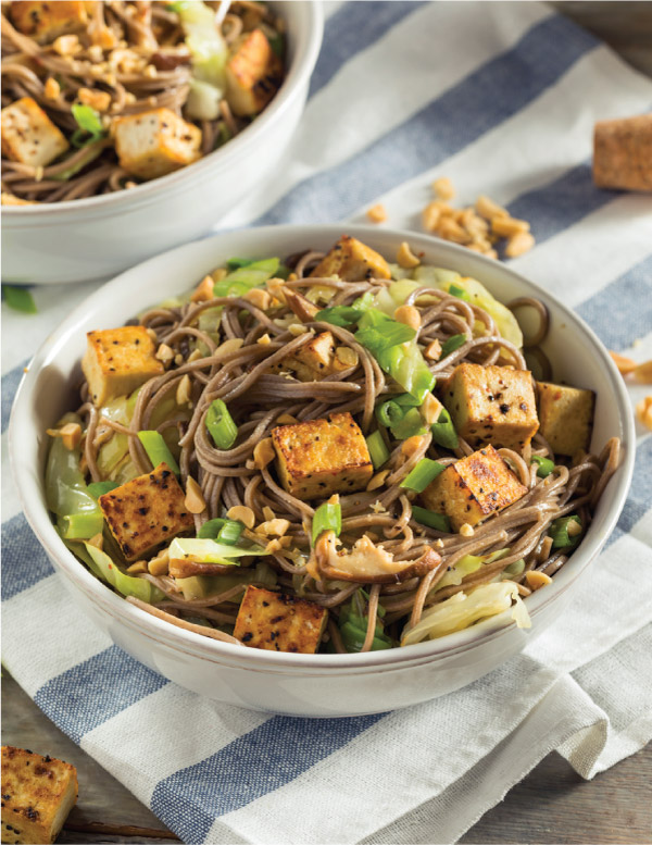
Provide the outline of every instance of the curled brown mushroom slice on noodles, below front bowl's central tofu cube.
{"type": "Polygon", "coordinates": [[[430,548],[417,560],[394,560],[393,555],[380,546],[374,546],[366,535],[350,551],[338,551],[339,545],[340,540],[334,531],[322,534],[308,563],[308,573],[312,577],[389,584],[425,575],[441,562],[441,557],[430,548]]]}

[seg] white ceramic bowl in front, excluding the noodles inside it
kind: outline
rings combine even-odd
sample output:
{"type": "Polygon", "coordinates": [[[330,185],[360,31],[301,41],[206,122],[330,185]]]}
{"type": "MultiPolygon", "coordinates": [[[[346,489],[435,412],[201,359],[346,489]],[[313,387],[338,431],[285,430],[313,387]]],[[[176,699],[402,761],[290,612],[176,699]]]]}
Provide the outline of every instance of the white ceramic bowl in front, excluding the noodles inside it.
{"type": "MultiPolygon", "coordinates": [[[[623,380],[604,347],[572,311],[496,261],[425,235],[364,226],[271,226],[189,244],[123,273],[77,308],[37,352],[24,376],[10,426],[10,452],[25,513],[74,600],[125,651],[176,683],[218,701],[297,716],[351,716],[406,707],[475,681],[546,630],[572,586],[598,555],[625,502],[635,434],[623,380]],[[65,548],[43,496],[45,431],[74,407],[85,333],[121,325],[138,310],[190,287],[230,256],[284,257],[328,248],[343,231],[385,254],[402,240],[425,261],[475,276],[499,299],[540,298],[550,309],[544,344],[556,378],[595,390],[593,447],[623,440],[623,463],[610,481],[581,545],[552,584],[527,599],[531,631],[507,614],[408,648],[358,655],[293,655],[239,648],[162,622],[120,598],[65,548]]],[[[604,608],[604,612],[609,612],[604,608]]]]}

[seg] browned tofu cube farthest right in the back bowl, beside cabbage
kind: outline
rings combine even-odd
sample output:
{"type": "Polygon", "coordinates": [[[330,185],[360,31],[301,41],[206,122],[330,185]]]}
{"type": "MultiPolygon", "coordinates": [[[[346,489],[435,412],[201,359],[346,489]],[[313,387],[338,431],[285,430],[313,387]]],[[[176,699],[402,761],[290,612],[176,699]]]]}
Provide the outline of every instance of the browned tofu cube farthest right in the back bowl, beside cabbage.
{"type": "Polygon", "coordinates": [[[234,114],[262,111],[283,83],[283,62],[262,29],[243,35],[226,65],[226,99],[234,114]]]}

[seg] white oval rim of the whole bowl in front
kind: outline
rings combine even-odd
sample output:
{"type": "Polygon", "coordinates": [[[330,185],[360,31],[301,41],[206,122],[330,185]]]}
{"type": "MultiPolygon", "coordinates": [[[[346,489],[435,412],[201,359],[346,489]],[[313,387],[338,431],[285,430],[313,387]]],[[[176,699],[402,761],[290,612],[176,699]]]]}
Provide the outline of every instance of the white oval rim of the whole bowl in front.
{"type": "MultiPolygon", "coordinates": [[[[313,225],[279,225],[264,226],[259,228],[244,229],[237,233],[240,236],[250,235],[252,244],[256,238],[264,238],[271,235],[278,235],[279,239],[287,236],[289,239],[299,239],[303,236],[314,235],[315,238],[337,239],[342,232],[364,240],[365,236],[377,238],[379,235],[397,245],[408,240],[411,246],[418,249],[432,250],[437,248],[439,252],[450,256],[451,265],[455,265],[455,259],[469,260],[468,250],[464,247],[444,241],[430,235],[414,233],[404,229],[384,228],[378,229],[374,226],[360,224],[313,224],[313,225]]],[[[96,604],[102,606],[102,609],[116,618],[121,623],[127,623],[129,627],[136,627],[140,633],[158,639],[160,643],[175,648],[178,647],[184,653],[192,654],[196,657],[209,659],[212,662],[236,662],[242,669],[256,668],[267,671],[287,671],[312,670],[318,672],[323,669],[347,671],[365,671],[397,668],[398,664],[422,663],[441,660],[455,654],[471,650],[489,639],[503,637],[514,632],[515,622],[509,619],[510,611],[489,618],[465,629],[463,631],[448,634],[438,639],[426,641],[410,648],[392,648],[383,651],[369,651],[365,654],[347,655],[297,655],[283,651],[267,651],[263,649],[240,648],[229,643],[222,643],[210,637],[196,634],[191,631],[177,627],[168,622],[160,620],[147,611],[137,608],[123,597],[115,594],[111,588],[92,575],[80,561],[65,547],[59,535],[55,533],[50,521],[47,508],[39,501],[42,488],[42,467],[26,463],[22,460],[23,442],[30,440],[30,421],[29,421],[29,400],[32,397],[32,387],[36,384],[37,374],[41,364],[50,358],[52,347],[57,343],[63,343],[67,334],[73,331],[75,323],[86,314],[97,308],[96,301],[106,296],[112,288],[124,286],[128,288],[135,277],[143,271],[158,269],[164,265],[168,257],[180,254],[181,257],[191,256],[195,251],[200,252],[213,245],[216,251],[224,247],[230,237],[236,233],[223,232],[202,240],[186,244],[176,247],[159,256],[155,256],[134,268],[124,271],[115,276],[111,282],[102,285],[101,288],[91,294],[79,306],[77,306],[68,316],[55,328],[47,340],[38,349],[29,365],[27,372],[23,375],[14,403],[11,411],[9,425],[9,451],[10,460],[16,484],[20,499],[23,506],[25,517],[34,533],[45,548],[50,559],[52,559],[58,569],[64,571],[77,587],[96,604]],[[29,472],[21,472],[21,467],[25,465],[29,472]],[[36,469],[36,472],[34,470],[36,469]]],[[[255,246],[253,246],[255,250],[255,246]]],[[[604,546],[607,537],[613,532],[620,511],[625,505],[626,496],[631,482],[634,472],[636,433],[634,415],[630,409],[629,398],[625,383],[618,373],[613,360],[606,349],[599,340],[593,331],[579,318],[574,311],[561,302],[556,297],[548,293],[542,286],[526,278],[517,273],[511,266],[500,264],[499,262],[473,253],[473,261],[476,264],[485,265],[496,274],[497,271],[511,278],[525,291],[534,294],[544,301],[549,301],[561,310],[564,320],[573,325],[592,348],[593,355],[599,359],[601,369],[607,374],[611,383],[612,395],[618,410],[618,418],[622,427],[622,455],[623,461],[618,472],[610,480],[610,486],[615,485],[616,490],[614,501],[610,510],[603,514],[600,524],[591,524],[586,537],[574,552],[569,566],[564,567],[563,577],[553,579],[552,584],[546,591],[538,591],[528,597],[528,611],[532,619],[532,626],[536,617],[541,610],[552,601],[556,600],[562,593],[572,587],[589,563],[598,556],[604,546]]]]}

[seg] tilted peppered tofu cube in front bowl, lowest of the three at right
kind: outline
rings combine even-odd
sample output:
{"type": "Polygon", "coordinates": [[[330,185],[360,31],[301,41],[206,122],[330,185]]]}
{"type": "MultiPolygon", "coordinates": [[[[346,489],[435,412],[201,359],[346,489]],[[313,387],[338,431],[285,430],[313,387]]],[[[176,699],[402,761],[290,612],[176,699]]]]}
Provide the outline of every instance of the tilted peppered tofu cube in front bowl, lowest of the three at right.
{"type": "Polygon", "coordinates": [[[450,464],[421,494],[426,508],[446,513],[454,531],[477,525],[527,493],[493,446],[450,464]]]}

